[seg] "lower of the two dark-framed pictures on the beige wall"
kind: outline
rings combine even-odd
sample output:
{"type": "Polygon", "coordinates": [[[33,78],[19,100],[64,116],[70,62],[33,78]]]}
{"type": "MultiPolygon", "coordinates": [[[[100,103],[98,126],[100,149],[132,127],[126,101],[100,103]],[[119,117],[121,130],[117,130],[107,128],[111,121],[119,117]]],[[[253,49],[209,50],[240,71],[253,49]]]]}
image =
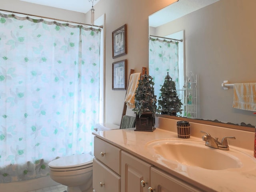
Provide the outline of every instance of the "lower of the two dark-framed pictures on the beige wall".
{"type": "Polygon", "coordinates": [[[127,60],[112,64],[112,90],[126,90],[127,85],[127,60]]]}

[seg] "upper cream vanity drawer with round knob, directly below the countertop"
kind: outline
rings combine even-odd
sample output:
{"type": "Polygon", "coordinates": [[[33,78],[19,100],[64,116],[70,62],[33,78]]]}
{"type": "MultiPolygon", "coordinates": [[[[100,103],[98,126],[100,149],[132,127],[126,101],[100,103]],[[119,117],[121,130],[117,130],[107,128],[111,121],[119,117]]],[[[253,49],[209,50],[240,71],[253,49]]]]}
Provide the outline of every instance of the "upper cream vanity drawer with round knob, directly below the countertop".
{"type": "Polygon", "coordinates": [[[108,142],[94,137],[94,156],[112,169],[117,174],[120,173],[121,150],[108,142]]]}

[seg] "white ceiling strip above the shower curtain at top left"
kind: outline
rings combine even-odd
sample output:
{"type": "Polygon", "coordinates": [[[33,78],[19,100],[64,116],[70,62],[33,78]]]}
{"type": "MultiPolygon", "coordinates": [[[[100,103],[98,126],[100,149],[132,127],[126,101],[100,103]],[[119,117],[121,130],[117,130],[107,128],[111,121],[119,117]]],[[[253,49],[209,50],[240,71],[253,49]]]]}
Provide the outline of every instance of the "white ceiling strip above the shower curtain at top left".
{"type": "Polygon", "coordinates": [[[61,8],[76,12],[86,13],[92,8],[92,2],[95,5],[100,0],[20,0],[55,8],[61,8]]]}

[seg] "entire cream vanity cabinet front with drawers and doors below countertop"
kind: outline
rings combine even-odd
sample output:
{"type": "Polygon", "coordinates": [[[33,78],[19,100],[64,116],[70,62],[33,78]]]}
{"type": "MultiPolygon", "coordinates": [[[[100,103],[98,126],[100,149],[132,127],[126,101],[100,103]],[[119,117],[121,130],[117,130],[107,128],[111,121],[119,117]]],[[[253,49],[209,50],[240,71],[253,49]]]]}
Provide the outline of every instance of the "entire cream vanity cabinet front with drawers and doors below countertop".
{"type": "Polygon", "coordinates": [[[97,137],[93,188],[96,192],[199,192],[197,188],[97,137]]]}

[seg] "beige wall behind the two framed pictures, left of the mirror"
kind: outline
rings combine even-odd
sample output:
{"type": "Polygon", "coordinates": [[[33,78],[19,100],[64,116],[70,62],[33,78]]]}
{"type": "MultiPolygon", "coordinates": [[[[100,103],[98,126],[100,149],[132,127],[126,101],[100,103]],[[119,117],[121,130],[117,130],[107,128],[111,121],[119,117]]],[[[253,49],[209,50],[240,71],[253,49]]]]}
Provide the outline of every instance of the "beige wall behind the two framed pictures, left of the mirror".
{"type": "MultiPolygon", "coordinates": [[[[112,90],[112,63],[127,59],[128,71],[140,72],[148,68],[148,16],[171,4],[174,0],[100,0],[95,8],[95,18],[106,14],[106,122],[120,124],[125,91],[112,90]],[[127,24],[128,52],[112,59],[112,31],[127,24]]],[[[90,22],[90,12],[87,13],[90,22]]]]}

